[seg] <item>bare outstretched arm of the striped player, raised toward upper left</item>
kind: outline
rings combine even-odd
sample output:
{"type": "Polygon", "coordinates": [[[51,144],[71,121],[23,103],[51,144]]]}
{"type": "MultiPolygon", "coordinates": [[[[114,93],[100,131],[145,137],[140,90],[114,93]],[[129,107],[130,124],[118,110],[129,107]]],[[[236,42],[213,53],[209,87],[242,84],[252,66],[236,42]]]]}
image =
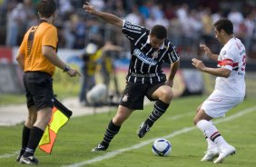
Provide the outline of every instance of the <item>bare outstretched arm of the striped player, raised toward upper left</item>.
{"type": "Polygon", "coordinates": [[[96,11],[94,8],[94,5],[91,5],[88,2],[86,2],[86,4],[83,5],[83,8],[85,9],[85,11],[88,14],[95,15],[97,17],[102,18],[105,22],[107,22],[109,24],[116,25],[120,28],[123,28],[123,20],[121,18],[119,18],[118,16],[109,14],[109,13],[96,11]]]}

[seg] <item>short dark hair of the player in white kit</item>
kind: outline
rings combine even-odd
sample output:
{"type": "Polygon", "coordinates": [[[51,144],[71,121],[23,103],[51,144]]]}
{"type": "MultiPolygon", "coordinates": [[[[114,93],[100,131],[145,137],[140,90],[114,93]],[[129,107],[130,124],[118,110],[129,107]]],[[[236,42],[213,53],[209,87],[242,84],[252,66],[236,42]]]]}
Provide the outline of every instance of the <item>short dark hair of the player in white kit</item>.
{"type": "Polygon", "coordinates": [[[233,24],[227,18],[219,19],[214,23],[214,27],[218,30],[218,32],[224,30],[227,34],[233,34],[233,24]]]}

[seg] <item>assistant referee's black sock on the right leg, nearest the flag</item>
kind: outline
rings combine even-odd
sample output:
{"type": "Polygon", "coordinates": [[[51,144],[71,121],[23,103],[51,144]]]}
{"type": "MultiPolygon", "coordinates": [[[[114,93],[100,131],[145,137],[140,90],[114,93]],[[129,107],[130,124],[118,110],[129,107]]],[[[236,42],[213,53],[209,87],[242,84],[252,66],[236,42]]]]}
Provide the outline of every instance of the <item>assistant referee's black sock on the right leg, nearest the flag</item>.
{"type": "Polygon", "coordinates": [[[30,132],[30,137],[29,137],[27,146],[25,148],[25,153],[24,153],[25,157],[34,155],[34,151],[37,145],[39,144],[43,134],[44,134],[44,131],[42,129],[37,128],[35,126],[32,127],[30,132]]]}

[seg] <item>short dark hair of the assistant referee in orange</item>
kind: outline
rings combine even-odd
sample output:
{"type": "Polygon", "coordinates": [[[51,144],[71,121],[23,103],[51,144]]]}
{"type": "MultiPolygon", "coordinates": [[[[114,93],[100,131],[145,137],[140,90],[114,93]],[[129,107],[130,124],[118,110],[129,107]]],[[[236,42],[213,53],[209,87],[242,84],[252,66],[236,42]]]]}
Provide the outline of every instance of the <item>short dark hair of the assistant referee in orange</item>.
{"type": "Polygon", "coordinates": [[[37,4],[37,11],[42,17],[49,18],[54,14],[57,7],[54,0],[42,0],[37,4]]]}

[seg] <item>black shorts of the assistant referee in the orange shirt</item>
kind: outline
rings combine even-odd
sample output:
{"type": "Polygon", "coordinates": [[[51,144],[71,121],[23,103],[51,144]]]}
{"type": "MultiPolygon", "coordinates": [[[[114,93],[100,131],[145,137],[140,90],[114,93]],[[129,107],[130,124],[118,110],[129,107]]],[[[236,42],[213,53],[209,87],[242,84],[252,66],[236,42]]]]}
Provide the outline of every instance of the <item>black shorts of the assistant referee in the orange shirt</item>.
{"type": "Polygon", "coordinates": [[[54,107],[53,78],[44,72],[25,72],[23,82],[27,107],[35,106],[37,111],[54,107]]]}

